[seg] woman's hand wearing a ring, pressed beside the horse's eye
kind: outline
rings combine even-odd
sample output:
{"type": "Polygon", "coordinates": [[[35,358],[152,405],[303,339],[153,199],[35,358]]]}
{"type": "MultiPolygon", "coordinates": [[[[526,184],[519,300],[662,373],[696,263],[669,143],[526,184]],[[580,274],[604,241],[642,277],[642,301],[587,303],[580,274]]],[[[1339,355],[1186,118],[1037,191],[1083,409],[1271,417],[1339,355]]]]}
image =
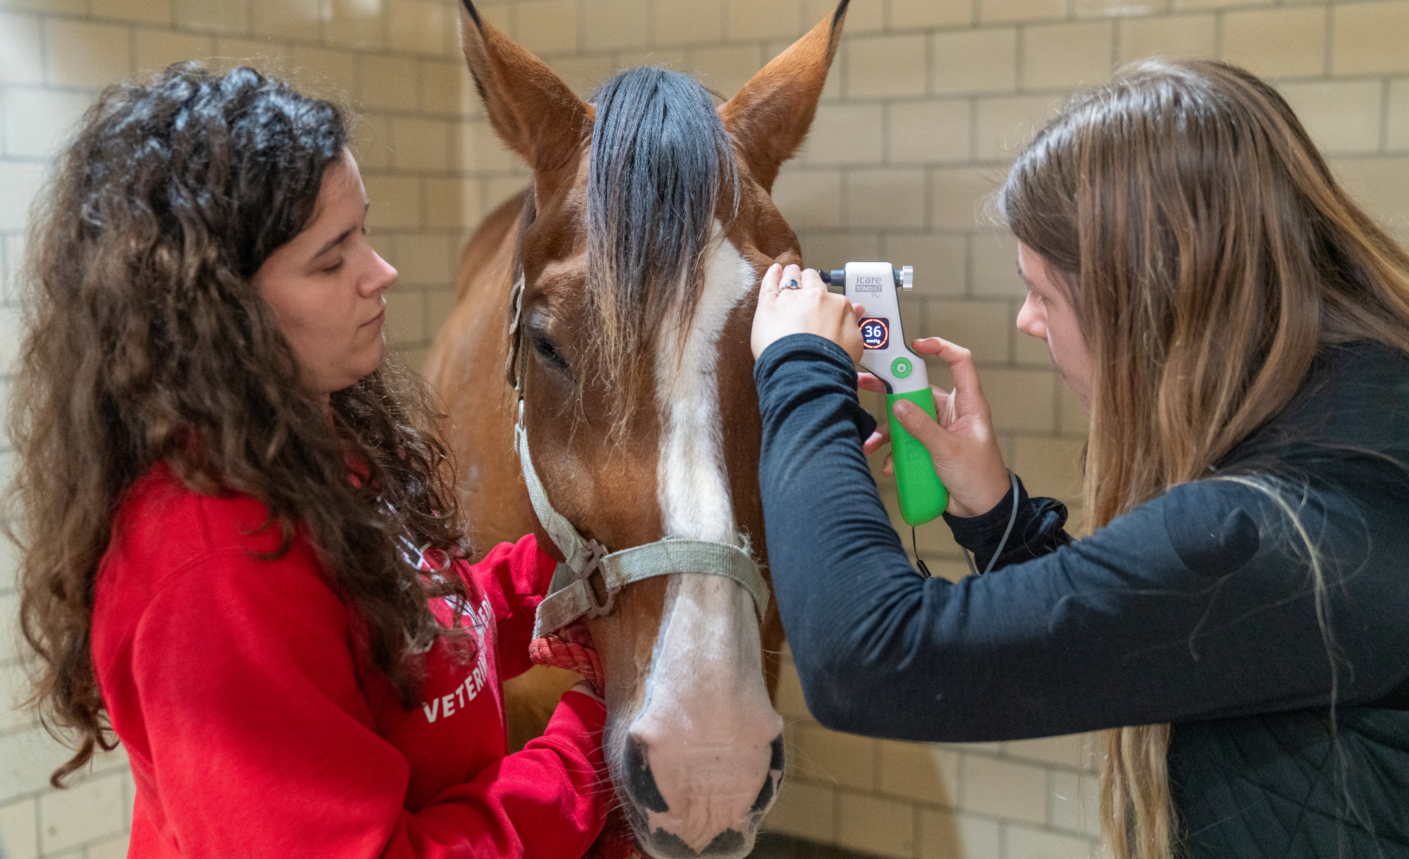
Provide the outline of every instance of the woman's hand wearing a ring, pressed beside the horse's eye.
{"type": "Polygon", "coordinates": [[[751,338],[754,359],[789,334],[816,334],[845,349],[852,362],[861,360],[858,313],[845,296],[828,293],[817,272],[775,263],[758,287],[751,338]],[[782,289],[789,280],[796,280],[800,289],[782,289]]]}

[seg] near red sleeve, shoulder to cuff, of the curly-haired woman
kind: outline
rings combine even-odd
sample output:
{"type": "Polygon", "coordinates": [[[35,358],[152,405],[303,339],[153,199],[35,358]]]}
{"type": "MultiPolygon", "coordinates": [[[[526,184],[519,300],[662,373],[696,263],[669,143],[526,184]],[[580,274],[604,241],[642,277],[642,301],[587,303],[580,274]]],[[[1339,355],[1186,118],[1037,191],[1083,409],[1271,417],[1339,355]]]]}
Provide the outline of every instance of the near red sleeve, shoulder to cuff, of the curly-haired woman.
{"type": "Polygon", "coordinates": [[[345,608],[297,555],[207,558],[137,624],[130,706],[180,852],[582,856],[610,801],[602,704],[565,696],[541,741],[411,814],[409,763],[376,732],[345,608]]]}

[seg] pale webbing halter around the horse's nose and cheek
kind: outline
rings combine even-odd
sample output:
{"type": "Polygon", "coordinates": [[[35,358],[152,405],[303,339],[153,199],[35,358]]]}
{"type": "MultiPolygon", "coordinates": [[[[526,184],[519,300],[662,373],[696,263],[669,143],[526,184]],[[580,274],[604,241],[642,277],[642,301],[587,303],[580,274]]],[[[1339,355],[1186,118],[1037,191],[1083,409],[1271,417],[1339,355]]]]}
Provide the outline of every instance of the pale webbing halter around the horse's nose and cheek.
{"type": "Polygon", "coordinates": [[[557,632],[579,618],[596,618],[612,613],[619,590],[633,582],[669,576],[672,573],[706,573],[724,576],[744,586],[754,598],[754,610],[762,622],[768,610],[768,584],[758,572],[758,562],[745,548],[706,539],[665,538],[655,542],[610,552],[595,539],[586,539],[578,529],[554,510],[548,493],[538,479],[528,453],[528,431],[524,428],[524,389],[520,365],[520,315],[523,314],[524,276],[519,276],[509,303],[513,317],[509,322],[509,376],[514,383],[514,397],[519,404],[519,418],[514,424],[514,449],[528,487],[528,501],[533,504],[542,529],[548,532],[564,562],[552,573],[548,596],[538,604],[533,637],[542,638],[557,632]],[[592,576],[602,582],[599,597],[592,586],[592,576]]]}

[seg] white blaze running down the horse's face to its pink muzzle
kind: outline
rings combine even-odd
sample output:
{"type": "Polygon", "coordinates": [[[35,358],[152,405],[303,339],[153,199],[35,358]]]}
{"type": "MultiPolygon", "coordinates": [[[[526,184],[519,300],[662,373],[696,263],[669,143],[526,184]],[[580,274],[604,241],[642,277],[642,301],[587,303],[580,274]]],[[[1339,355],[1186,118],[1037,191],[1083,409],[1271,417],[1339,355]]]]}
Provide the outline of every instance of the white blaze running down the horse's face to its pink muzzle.
{"type": "MultiPolygon", "coordinates": [[[[657,468],[665,537],[744,545],[734,521],[719,407],[719,338],[757,282],[716,231],[689,330],[655,356],[657,468]]],[[[737,582],[669,577],[645,707],[627,738],[627,791],[655,856],[744,856],[782,780],[782,718],[768,701],[758,620],[737,582]],[[688,848],[688,849],[682,849],[688,848]]]]}

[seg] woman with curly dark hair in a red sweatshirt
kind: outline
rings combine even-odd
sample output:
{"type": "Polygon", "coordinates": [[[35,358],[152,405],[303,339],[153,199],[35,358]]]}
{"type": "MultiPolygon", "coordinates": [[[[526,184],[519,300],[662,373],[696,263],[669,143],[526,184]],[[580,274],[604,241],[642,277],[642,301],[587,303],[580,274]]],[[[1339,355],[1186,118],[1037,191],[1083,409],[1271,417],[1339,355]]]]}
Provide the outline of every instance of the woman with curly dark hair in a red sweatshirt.
{"type": "Polygon", "coordinates": [[[582,856],[604,707],[506,755],[554,562],[471,566],[385,356],[347,118],[252,69],[110,87],[31,239],[20,452],[34,700],[121,741],[132,856],[582,856]]]}

